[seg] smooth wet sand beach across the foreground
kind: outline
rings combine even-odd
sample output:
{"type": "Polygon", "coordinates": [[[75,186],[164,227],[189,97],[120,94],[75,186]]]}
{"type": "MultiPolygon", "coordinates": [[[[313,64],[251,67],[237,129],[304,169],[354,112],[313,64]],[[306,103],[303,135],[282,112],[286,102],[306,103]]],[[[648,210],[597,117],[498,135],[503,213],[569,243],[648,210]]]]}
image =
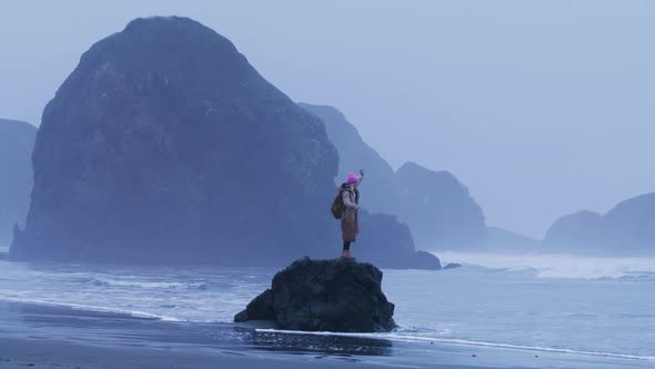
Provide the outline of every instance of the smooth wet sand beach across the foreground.
{"type": "Polygon", "coordinates": [[[265,325],[163,321],[111,311],[0,300],[0,368],[653,368],[655,361],[285,332],[265,325]]]}

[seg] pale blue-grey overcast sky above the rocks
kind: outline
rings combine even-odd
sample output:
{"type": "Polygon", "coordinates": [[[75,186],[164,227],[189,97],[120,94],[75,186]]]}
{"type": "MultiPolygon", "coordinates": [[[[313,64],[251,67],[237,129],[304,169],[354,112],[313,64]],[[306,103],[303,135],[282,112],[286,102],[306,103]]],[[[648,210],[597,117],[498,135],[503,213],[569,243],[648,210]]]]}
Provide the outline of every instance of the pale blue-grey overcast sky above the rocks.
{"type": "Polygon", "coordinates": [[[492,226],[542,237],[655,191],[655,1],[2,1],[0,117],[39,124],[83,51],[155,14],[337,107],[394,167],[452,171],[492,226]]]}

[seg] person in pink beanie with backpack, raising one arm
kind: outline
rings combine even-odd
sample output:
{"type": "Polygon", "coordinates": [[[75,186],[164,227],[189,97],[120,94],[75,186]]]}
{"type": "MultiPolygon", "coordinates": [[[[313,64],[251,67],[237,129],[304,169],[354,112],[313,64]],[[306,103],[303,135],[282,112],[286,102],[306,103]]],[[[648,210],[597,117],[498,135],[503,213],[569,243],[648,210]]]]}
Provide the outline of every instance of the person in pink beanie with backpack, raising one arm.
{"type": "Polygon", "coordinates": [[[343,237],[343,251],[341,257],[353,259],[350,252],[350,246],[355,241],[360,232],[360,222],[357,210],[360,208],[359,186],[364,180],[364,170],[360,170],[360,177],[350,173],[345,183],[342,183],[339,193],[343,201],[343,215],[341,216],[341,235],[343,237]]]}

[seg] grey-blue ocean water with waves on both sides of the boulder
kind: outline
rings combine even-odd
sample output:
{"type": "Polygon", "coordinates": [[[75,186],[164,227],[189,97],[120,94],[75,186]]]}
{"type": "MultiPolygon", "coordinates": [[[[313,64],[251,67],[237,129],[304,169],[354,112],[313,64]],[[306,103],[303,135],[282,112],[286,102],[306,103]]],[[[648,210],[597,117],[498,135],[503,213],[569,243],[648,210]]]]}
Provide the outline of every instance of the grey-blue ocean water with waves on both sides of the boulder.
{"type": "MultiPolygon", "coordinates": [[[[384,270],[400,328],[359,335],[652,361],[655,259],[440,253],[463,268],[384,270]]],[[[231,322],[275,269],[0,261],[0,301],[231,322]]]]}

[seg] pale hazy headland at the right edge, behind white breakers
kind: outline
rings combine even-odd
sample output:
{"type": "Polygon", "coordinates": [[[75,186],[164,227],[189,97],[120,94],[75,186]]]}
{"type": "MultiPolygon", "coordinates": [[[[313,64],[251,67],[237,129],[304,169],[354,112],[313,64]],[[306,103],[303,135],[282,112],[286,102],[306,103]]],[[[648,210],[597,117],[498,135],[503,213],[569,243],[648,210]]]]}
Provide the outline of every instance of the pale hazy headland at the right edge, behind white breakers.
{"type": "Polygon", "coordinates": [[[655,193],[618,203],[605,215],[581,211],[556,220],[544,251],[573,253],[655,253],[655,193]]]}

